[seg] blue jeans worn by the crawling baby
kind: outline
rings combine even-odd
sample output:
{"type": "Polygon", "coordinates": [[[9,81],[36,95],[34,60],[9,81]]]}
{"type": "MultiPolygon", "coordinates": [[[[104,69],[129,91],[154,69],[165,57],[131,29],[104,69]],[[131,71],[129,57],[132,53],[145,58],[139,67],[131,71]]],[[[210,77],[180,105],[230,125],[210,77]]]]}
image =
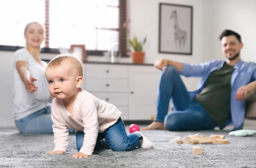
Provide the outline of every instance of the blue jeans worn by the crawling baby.
{"type": "MultiPolygon", "coordinates": [[[[125,125],[122,119],[119,118],[117,122],[109,127],[105,132],[99,133],[96,141],[94,151],[102,149],[102,139],[108,143],[112,151],[131,151],[140,145],[140,138],[137,134],[131,133],[127,135],[125,132],[125,125]]],[[[84,132],[76,132],[76,147],[80,151],[84,143],[84,132]]]]}

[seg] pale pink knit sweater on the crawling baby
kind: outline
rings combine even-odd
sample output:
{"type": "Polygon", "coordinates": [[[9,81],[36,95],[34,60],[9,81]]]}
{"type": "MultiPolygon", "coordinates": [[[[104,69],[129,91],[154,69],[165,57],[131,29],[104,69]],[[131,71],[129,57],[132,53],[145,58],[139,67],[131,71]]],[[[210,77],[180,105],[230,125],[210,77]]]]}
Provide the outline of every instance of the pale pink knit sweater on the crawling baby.
{"type": "MultiPolygon", "coordinates": [[[[96,145],[98,133],[104,132],[114,125],[121,112],[113,104],[96,98],[80,88],[70,114],[61,99],[52,101],[52,128],[54,133],[54,150],[66,151],[68,146],[68,130],[84,132],[84,142],[79,152],[90,156],[96,145]]],[[[121,143],[121,142],[120,142],[121,143]]]]}

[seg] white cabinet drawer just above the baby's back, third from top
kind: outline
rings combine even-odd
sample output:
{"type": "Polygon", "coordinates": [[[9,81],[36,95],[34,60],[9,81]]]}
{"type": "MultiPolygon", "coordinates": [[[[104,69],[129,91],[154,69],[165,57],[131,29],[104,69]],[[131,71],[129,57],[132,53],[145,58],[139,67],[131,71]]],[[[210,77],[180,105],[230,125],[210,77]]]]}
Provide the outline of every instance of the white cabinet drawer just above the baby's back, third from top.
{"type": "Polygon", "coordinates": [[[93,96],[115,106],[128,106],[128,93],[100,93],[90,92],[93,96]]]}

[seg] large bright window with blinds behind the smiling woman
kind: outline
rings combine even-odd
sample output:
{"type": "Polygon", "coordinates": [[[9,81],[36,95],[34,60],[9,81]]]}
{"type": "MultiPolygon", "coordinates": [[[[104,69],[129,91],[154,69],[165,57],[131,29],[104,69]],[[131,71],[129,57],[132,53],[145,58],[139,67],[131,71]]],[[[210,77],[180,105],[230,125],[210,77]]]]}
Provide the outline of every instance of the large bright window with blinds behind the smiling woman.
{"type": "Polygon", "coordinates": [[[0,45],[24,46],[26,23],[38,21],[47,31],[41,47],[85,44],[87,50],[127,52],[126,0],[8,0],[0,14],[6,16],[0,45]]]}

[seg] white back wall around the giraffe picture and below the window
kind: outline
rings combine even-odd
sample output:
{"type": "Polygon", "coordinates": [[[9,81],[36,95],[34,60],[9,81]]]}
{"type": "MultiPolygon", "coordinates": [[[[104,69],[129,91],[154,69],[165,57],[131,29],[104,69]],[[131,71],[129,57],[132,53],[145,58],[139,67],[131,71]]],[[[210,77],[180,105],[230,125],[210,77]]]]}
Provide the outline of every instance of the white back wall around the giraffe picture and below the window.
{"type": "MultiPolygon", "coordinates": [[[[200,63],[204,61],[204,31],[203,0],[131,0],[131,35],[139,38],[147,36],[144,47],[145,63],[153,64],[157,58],[167,58],[175,61],[200,63]],[[158,53],[158,24],[159,3],[177,3],[193,6],[193,55],[171,55],[158,53]]],[[[12,74],[11,59],[13,52],[0,51],[0,127],[14,127],[12,117],[12,74]]],[[[53,54],[42,54],[41,58],[52,58],[53,54]]],[[[101,61],[101,57],[88,57],[88,61],[101,61]]],[[[131,62],[131,58],[124,58],[121,62],[131,62]]],[[[184,79],[184,78],[183,78],[184,79]]],[[[184,79],[188,90],[195,90],[199,79],[184,79]]]]}

